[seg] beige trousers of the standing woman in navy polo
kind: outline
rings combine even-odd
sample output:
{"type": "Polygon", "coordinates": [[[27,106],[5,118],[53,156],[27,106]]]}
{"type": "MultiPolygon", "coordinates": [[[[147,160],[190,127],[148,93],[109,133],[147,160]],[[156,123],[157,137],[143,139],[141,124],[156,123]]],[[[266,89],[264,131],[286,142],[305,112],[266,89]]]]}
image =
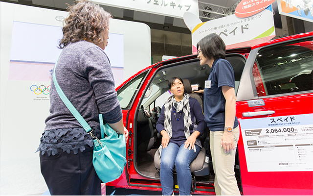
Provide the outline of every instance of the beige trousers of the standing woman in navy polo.
{"type": "Polygon", "coordinates": [[[239,140],[239,126],[234,128],[235,150],[224,152],[221,141],[224,131],[210,131],[210,149],[215,173],[214,189],[217,196],[240,196],[235,177],[235,155],[239,140]]]}

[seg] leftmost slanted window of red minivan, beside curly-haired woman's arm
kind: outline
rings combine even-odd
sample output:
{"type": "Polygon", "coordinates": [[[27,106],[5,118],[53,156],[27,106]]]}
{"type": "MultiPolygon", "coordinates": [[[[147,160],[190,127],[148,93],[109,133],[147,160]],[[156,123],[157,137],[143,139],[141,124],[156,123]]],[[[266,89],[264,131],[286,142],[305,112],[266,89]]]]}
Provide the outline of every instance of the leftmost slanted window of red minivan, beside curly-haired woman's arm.
{"type": "Polygon", "coordinates": [[[147,73],[148,72],[139,74],[117,91],[117,99],[119,100],[119,104],[122,109],[130,108],[133,99],[147,73]]]}

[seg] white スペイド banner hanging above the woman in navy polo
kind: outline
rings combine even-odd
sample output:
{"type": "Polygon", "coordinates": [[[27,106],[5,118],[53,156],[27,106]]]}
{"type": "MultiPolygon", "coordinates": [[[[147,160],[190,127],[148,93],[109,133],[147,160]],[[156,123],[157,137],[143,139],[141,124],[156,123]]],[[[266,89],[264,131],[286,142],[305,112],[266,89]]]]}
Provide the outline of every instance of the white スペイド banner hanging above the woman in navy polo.
{"type": "Polygon", "coordinates": [[[225,45],[275,36],[272,5],[262,12],[247,18],[238,18],[235,14],[198,24],[192,29],[192,48],[197,51],[197,43],[206,35],[216,33],[225,45]]]}

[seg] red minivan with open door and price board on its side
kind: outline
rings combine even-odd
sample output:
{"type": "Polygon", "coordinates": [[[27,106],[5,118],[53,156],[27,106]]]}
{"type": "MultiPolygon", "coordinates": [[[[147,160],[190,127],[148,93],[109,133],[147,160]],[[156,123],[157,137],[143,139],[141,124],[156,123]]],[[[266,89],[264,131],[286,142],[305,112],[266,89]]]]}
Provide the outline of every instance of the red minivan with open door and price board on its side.
{"type": "MultiPolygon", "coordinates": [[[[227,49],[226,60],[235,73],[241,133],[235,172],[241,193],[313,195],[313,32],[227,49]]],[[[148,66],[116,89],[129,130],[128,162],[122,176],[106,186],[161,191],[156,122],[171,96],[168,80],[189,80],[185,93],[193,94],[209,74],[197,55],[188,55],[148,66]]],[[[207,132],[200,139],[191,194],[215,195],[207,132]]],[[[177,192],[177,180],[174,184],[177,192]]]]}

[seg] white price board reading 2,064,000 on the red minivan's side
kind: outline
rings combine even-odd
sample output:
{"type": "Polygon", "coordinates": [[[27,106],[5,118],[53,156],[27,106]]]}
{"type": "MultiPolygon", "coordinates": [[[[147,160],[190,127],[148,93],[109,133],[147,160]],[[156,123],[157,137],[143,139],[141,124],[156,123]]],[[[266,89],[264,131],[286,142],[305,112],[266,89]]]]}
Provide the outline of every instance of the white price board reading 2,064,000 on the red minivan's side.
{"type": "Polygon", "coordinates": [[[248,172],[313,171],[313,114],[240,120],[248,172]]]}

